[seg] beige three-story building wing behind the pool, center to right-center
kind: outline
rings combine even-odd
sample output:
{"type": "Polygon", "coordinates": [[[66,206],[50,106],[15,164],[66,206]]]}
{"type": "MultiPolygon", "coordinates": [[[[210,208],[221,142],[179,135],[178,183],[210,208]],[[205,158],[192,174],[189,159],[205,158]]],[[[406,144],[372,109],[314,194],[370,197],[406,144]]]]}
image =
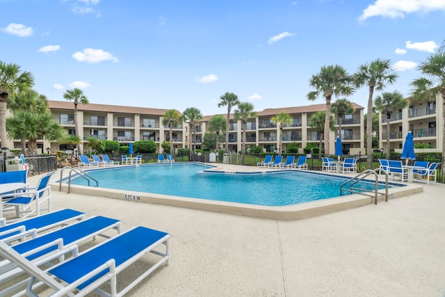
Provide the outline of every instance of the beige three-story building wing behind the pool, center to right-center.
{"type": "MultiPolygon", "coordinates": [[[[364,107],[358,104],[353,104],[355,112],[350,115],[344,115],[341,119],[341,139],[343,152],[357,154],[364,152],[364,107]]],[[[258,111],[256,118],[250,118],[246,127],[246,147],[257,145],[261,147],[264,152],[275,152],[279,145],[280,126],[272,121],[272,118],[279,113],[289,113],[291,115],[291,124],[283,128],[282,133],[282,151],[286,151],[286,146],[290,143],[297,143],[299,151],[307,143],[319,143],[320,138],[323,138],[320,131],[310,127],[309,123],[318,111],[325,111],[325,104],[314,104],[308,106],[293,106],[280,109],[264,109],[258,111]]],[[[223,115],[223,114],[222,114],[223,115]]],[[[202,138],[206,133],[207,125],[213,115],[205,116],[197,126],[196,145],[199,148],[202,145],[202,138]]],[[[227,118],[227,113],[223,115],[227,118]]],[[[334,153],[335,139],[339,129],[339,119],[334,115],[335,127],[337,131],[330,133],[330,152],[334,153]]],[[[238,152],[241,150],[242,142],[241,121],[236,121],[233,115],[229,120],[229,152],[238,152]]],[[[323,139],[322,139],[323,141],[323,139]]],[[[223,144],[221,144],[223,145],[223,144]]]]}

